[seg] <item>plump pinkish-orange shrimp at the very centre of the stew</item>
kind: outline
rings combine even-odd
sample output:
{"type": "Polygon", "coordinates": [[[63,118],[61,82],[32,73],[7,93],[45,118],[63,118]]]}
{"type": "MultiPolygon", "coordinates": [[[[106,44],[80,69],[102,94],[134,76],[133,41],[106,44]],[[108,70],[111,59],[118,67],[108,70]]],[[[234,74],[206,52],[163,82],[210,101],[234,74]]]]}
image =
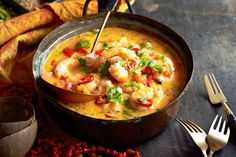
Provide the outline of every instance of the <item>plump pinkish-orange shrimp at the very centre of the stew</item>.
{"type": "Polygon", "coordinates": [[[119,62],[112,64],[109,72],[119,82],[127,82],[129,80],[129,72],[119,62]]]}

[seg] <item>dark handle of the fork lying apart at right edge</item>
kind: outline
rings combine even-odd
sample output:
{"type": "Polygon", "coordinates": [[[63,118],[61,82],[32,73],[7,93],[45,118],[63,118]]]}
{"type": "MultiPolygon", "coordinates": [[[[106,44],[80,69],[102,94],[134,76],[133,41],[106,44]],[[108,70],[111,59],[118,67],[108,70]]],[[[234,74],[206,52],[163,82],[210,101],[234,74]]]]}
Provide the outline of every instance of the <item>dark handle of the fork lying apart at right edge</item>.
{"type": "Polygon", "coordinates": [[[231,109],[228,107],[226,102],[222,102],[222,105],[224,106],[224,112],[227,116],[229,126],[231,130],[236,133],[236,117],[234,113],[231,111],[231,109]]]}

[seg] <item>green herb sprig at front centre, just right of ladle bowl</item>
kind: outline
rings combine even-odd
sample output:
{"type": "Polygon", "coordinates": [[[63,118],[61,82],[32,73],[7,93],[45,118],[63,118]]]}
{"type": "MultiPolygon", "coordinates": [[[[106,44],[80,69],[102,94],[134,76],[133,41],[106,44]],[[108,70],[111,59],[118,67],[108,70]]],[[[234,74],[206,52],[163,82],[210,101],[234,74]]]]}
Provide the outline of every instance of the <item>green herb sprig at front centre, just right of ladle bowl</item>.
{"type": "Polygon", "coordinates": [[[111,102],[121,102],[123,100],[122,92],[116,87],[107,89],[107,100],[111,102]]]}

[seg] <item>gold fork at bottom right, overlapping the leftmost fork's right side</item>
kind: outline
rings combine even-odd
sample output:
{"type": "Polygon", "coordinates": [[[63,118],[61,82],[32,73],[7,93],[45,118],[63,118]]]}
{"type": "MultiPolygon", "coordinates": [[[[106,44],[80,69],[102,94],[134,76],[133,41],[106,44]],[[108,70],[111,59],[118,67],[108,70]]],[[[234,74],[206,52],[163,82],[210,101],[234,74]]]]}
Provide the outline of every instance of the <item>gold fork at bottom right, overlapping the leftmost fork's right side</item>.
{"type": "Polygon", "coordinates": [[[216,115],[207,135],[207,141],[210,147],[210,152],[208,157],[212,157],[214,152],[223,148],[229,140],[229,135],[230,135],[229,127],[226,126],[225,120],[223,120],[222,122],[222,116],[220,116],[218,123],[216,123],[218,117],[219,116],[216,115]]]}

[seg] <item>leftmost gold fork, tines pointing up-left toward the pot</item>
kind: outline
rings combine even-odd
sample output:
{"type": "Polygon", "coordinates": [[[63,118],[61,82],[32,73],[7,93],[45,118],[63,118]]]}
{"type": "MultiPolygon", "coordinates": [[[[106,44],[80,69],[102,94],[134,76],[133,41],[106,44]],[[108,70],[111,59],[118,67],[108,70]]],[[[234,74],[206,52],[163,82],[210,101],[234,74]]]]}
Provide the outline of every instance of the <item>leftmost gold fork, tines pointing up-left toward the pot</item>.
{"type": "Polygon", "coordinates": [[[206,150],[208,148],[208,145],[206,142],[207,134],[205,133],[205,131],[190,120],[176,118],[176,121],[187,130],[193,141],[201,149],[204,157],[207,157],[206,150]]]}

